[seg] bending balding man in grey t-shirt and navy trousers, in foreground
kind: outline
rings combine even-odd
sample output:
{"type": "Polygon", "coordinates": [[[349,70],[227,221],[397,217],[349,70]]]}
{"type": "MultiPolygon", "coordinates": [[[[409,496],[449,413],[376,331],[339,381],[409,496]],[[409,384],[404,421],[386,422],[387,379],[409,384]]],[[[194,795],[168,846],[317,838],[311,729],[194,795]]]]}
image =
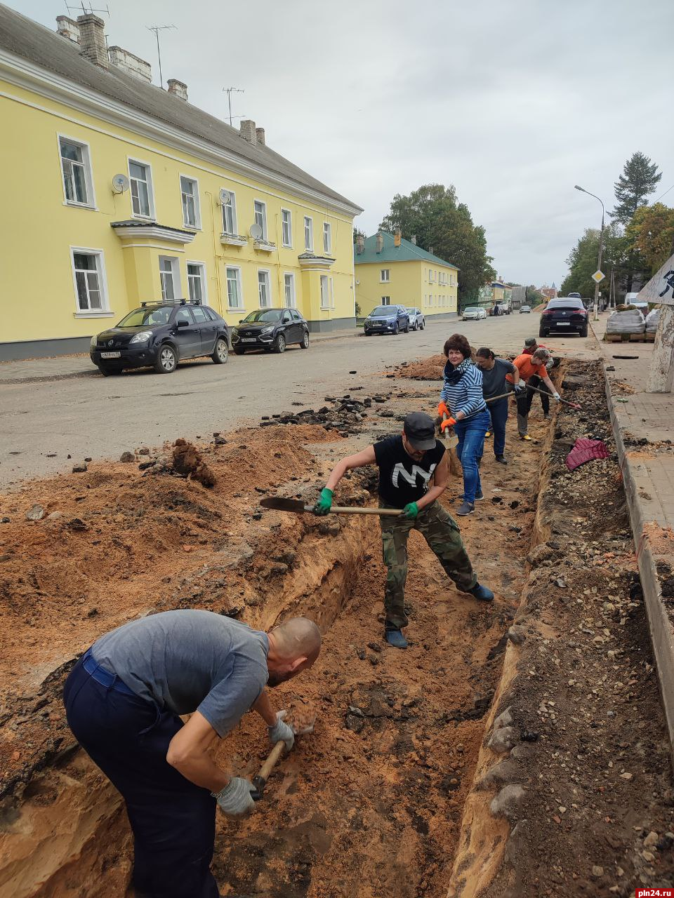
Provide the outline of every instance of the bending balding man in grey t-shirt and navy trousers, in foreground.
{"type": "Polygon", "coordinates": [[[310,667],[320,647],[306,618],[264,633],[186,610],[130,621],[77,662],[64,690],[68,724],[124,797],[137,894],[217,898],[209,869],[216,800],[225,814],[246,814],[253,785],[221,770],[210,749],[249,709],[266,722],[272,744],[292,748],[293,731],[265,685],[310,667]]]}

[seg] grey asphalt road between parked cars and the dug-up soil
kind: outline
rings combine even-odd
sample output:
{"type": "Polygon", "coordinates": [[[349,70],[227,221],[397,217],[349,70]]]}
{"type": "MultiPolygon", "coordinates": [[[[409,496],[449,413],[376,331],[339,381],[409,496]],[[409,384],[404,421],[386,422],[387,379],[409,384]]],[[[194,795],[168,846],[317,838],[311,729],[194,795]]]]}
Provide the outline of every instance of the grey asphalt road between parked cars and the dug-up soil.
{"type": "MultiPolygon", "coordinates": [[[[537,314],[439,321],[396,337],[349,337],[316,342],[306,350],[288,348],[282,356],[232,355],[226,365],[200,360],[181,365],[175,374],[142,371],[47,383],[4,382],[0,489],[70,471],[85,457],[117,459],[126,450],[158,447],[178,436],[208,439],[214,431],[290,409],[291,402],[322,404],[325,394],[348,392],[357,383],[381,389],[377,374],[386,365],[441,352],[455,330],[465,333],[474,347],[519,352],[524,338],[536,335],[537,328],[537,314]]],[[[596,356],[591,336],[555,336],[544,342],[560,355],[596,356]]]]}

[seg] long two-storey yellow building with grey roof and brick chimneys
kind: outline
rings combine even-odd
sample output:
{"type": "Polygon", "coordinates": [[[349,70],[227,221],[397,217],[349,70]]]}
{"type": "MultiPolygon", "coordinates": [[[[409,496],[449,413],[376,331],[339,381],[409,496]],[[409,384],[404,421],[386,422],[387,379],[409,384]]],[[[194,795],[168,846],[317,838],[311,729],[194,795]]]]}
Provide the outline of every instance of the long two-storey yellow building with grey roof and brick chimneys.
{"type": "Polygon", "coordinates": [[[231,324],[296,307],[354,323],[349,199],[106,46],[0,5],[0,359],[82,352],[144,300],[200,298],[231,324]]]}

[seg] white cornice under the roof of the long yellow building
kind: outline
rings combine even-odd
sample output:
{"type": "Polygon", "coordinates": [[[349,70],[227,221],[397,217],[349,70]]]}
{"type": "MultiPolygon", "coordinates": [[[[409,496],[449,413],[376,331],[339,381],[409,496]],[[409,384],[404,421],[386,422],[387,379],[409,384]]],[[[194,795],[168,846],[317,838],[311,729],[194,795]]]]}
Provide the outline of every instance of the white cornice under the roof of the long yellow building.
{"type": "Polygon", "coordinates": [[[36,66],[28,59],[16,56],[4,49],[0,49],[0,74],[10,84],[37,93],[49,100],[63,103],[70,109],[93,115],[111,125],[133,131],[134,134],[160,141],[173,149],[197,156],[204,162],[216,164],[220,168],[270,183],[290,194],[309,199],[343,215],[352,217],[363,211],[359,206],[342,203],[340,200],[321,193],[320,190],[306,187],[291,178],[285,178],[263,165],[244,159],[243,156],[223,147],[210,144],[207,140],[193,136],[180,128],[172,128],[159,119],[154,119],[144,112],[134,110],[102,93],[70,81],[62,75],[50,72],[49,69],[36,66]]]}

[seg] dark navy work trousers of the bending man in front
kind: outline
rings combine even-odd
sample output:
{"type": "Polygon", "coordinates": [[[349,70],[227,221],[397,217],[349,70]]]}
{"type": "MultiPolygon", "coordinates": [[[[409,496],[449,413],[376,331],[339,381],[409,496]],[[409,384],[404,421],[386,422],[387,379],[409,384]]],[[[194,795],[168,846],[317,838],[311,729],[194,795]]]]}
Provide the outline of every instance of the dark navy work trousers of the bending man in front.
{"type": "Polygon", "coordinates": [[[210,872],[216,801],[166,762],[181,718],[138,698],[88,653],[68,676],[63,696],[75,738],[126,803],[137,894],[219,898],[210,872]]]}

